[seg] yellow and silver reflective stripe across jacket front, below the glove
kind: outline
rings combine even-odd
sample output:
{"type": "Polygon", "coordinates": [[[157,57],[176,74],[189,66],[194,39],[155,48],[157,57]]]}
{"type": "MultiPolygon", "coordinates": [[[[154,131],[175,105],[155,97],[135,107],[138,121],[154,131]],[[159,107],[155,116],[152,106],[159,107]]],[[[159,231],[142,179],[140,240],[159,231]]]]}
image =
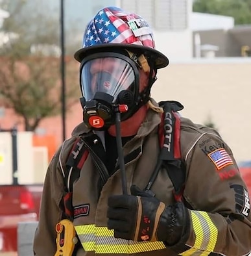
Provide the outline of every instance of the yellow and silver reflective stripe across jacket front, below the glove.
{"type": "Polygon", "coordinates": [[[95,253],[139,253],[165,249],[163,242],[134,242],[114,237],[114,230],[91,225],[75,226],[85,251],[95,253]]]}

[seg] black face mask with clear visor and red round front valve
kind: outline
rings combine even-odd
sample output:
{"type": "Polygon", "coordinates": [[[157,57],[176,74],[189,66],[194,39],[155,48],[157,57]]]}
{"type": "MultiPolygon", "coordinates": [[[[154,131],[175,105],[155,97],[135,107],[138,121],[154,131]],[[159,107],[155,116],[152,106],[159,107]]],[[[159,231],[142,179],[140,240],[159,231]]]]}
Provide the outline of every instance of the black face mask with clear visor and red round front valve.
{"type": "Polygon", "coordinates": [[[139,72],[136,63],[121,53],[95,53],[80,65],[81,105],[84,123],[104,130],[139,109],[139,72]]]}

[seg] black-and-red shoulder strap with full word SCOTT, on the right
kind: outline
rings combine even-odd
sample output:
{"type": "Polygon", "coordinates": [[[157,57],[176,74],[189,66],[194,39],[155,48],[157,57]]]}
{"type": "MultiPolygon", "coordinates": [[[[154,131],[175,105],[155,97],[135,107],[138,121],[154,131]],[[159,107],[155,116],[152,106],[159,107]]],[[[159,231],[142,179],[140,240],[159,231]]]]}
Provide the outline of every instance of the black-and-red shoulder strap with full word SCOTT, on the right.
{"type": "Polygon", "coordinates": [[[184,107],[178,101],[161,101],[159,105],[163,108],[158,131],[161,149],[158,162],[145,190],[153,194],[150,187],[160,169],[165,168],[174,186],[174,198],[176,201],[181,201],[185,184],[185,167],[180,152],[180,114],[178,111],[184,107]]]}

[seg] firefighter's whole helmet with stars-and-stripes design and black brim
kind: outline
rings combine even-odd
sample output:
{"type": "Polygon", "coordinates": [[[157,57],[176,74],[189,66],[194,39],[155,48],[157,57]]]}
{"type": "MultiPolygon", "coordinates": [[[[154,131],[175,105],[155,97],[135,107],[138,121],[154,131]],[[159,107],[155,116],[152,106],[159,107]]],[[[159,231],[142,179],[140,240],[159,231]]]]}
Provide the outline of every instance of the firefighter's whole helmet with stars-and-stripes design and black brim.
{"type": "Polygon", "coordinates": [[[123,48],[154,58],[156,68],[169,64],[165,55],[155,49],[152,29],[141,16],[114,6],[106,7],[91,19],[84,32],[82,49],[75,59],[82,62],[91,53],[123,48]]]}

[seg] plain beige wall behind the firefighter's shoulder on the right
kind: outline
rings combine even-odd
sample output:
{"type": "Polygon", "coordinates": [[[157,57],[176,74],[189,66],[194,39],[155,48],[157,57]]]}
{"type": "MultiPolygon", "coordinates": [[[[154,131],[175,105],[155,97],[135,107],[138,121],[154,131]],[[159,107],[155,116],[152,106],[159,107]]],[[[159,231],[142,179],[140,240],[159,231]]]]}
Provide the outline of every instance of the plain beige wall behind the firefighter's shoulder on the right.
{"type": "Polygon", "coordinates": [[[177,100],[195,123],[211,118],[237,161],[251,153],[251,58],[171,62],[152,88],[157,100],[177,100]]]}

